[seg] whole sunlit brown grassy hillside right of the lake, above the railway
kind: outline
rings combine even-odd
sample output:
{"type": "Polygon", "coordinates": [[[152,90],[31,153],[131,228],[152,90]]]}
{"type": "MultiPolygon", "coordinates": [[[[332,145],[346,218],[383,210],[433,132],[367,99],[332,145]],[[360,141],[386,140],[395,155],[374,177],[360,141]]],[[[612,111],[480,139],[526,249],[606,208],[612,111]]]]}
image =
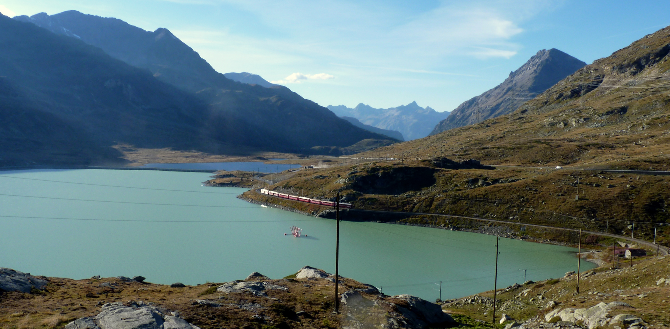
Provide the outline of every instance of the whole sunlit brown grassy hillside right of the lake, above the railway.
{"type": "Polygon", "coordinates": [[[513,114],[364,152],[356,165],[298,172],[270,188],[326,198],[340,190],[359,209],[622,235],[636,221],[635,237],[653,240],[657,229],[665,244],[670,177],[555,167],[667,169],[669,33],[661,29],[597,60],[513,114]],[[444,157],[498,167],[454,167],[444,157]]]}

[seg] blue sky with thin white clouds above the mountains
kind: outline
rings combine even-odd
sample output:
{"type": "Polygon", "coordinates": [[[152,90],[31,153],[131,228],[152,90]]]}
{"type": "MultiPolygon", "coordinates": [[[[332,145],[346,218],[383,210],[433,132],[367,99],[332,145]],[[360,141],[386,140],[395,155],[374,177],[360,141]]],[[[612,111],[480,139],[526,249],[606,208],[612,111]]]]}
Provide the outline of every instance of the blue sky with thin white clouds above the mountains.
{"type": "Polygon", "coordinates": [[[251,72],[323,106],[453,110],[540,49],[590,64],[670,25],[670,1],[0,0],[170,29],[218,72],[251,72]]]}

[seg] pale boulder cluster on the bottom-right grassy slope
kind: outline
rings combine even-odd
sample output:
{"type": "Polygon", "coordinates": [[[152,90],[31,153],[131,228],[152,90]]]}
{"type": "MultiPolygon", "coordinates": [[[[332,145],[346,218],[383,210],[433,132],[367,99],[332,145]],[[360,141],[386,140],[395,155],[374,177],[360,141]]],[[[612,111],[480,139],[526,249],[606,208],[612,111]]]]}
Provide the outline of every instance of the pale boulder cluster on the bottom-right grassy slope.
{"type": "MultiPolygon", "coordinates": [[[[609,304],[600,303],[590,308],[557,308],[545,315],[545,321],[549,323],[559,321],[582,322],[589,329],[594,329],[606,326],[612,322],[613,319],[610,319],[611,316],[609,313],[615,306],[630,307],[630,305],[624,302],[611,302],[609,304]]],[[[621,319],[622,317],[619,317],[617,321],[621,319]]]]}

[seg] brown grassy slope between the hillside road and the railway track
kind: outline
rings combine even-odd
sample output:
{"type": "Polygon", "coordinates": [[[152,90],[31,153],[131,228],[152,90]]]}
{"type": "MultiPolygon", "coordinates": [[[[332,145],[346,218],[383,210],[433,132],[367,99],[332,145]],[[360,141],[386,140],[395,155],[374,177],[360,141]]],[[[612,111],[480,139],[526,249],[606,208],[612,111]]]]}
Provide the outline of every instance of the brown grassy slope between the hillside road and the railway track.
{"type": "MultiPolygon", "coordinates": [[[[267,188],[317,199],[334,198],[335,191],[341,189],[341,195],[352,198],[347,202],[353,203],[356,209],[482,217],[621,235],[630,235],[630,220],[667,223],[670,215],[664,211],[665,200],[670,196],[670,177],[667,176],[509,167],[498,170],[440,169],[435,172],[434,185],[399,195],[361,193],[346,183],[336,183],[354,175],[377,175],[375,170],[366,173],[375,168],[424,165],[418,161],[409,164],[381,161],[355,167],[308,169],[267,188]],[[358,173],[348,175],[352,171],[358,173]],[[576,201],[578,177],[580,200],[576,201]],[[484,183],[471,184],[473,179],[484,183]],[[614,187],[608,188],[608,185],[614,187]]],[[[267,197],[255,191],[244,195],[308,214],[328,209],[267,197]]],[[[658,229],[657,241],[665,245],[670,237],[668,226],[636,223],[635,237],[653,239],[655,228],[658,229]]],[[[549,234],[545,238],[551,239],[551,233],[544,234],[549,234]]]]}

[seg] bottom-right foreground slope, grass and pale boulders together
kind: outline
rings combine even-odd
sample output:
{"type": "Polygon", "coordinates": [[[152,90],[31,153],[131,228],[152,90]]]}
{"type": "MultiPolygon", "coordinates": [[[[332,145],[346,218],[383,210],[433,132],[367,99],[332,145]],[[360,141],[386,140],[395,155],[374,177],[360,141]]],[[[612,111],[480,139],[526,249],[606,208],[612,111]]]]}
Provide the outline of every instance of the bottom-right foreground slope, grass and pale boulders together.
{"type": "MultiPolygon", "coordinates": [[[[496,324],[508,329],[669,327],[670,257],[616,265],[615,269],[608,263],[582,272],[579,294],[574,271],[565,273],[564,278],[529,281],[498,290],[496,324]]],[[[452,315],[491,322],[492,297],[490,291],[441,304],[452,315]]]]}

